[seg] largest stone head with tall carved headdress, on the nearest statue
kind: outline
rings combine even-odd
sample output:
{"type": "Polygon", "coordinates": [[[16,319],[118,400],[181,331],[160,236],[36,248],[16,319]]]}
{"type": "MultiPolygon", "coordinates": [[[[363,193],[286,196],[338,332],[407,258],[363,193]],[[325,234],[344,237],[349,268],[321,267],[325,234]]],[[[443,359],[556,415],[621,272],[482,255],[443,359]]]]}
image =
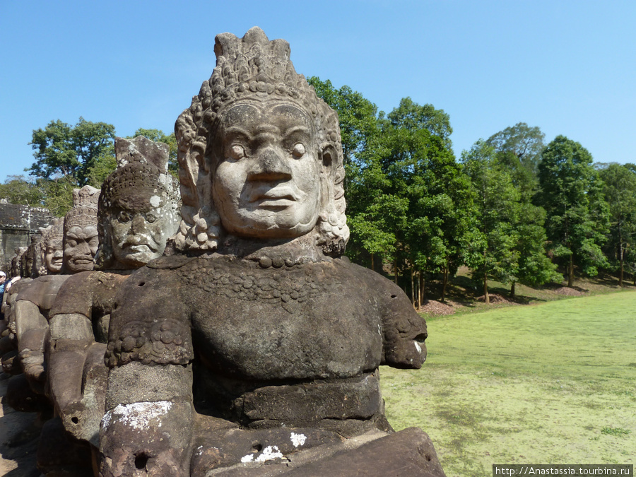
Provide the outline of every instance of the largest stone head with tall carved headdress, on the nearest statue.
{"type": "Polygon", "coordinates": [[[177,119],[180,249],[216,249],[223,234],[313,235],[327,254],[348,240],[338,116],[295,72],[285,40],[260,28],[216,37],[217,61],[177,119]]]}

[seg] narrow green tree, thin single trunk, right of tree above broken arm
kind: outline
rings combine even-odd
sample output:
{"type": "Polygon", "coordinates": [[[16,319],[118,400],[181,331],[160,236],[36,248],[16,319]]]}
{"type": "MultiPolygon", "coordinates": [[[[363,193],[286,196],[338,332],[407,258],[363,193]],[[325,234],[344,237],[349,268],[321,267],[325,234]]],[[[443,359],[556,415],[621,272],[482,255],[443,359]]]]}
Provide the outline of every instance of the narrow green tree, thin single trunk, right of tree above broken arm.
{"type": "Polygon", "coordinates": [[[519,192],[512,177],[497,162],[495,149],[477,141],[461,155],[466,174],[471,179],[476,208],[476,228],[467,234],[464,250],[466,264],[473,279],[483,284],[486,303],[490,302],[488,279],[502,283],[518,281],[519,192]]]}

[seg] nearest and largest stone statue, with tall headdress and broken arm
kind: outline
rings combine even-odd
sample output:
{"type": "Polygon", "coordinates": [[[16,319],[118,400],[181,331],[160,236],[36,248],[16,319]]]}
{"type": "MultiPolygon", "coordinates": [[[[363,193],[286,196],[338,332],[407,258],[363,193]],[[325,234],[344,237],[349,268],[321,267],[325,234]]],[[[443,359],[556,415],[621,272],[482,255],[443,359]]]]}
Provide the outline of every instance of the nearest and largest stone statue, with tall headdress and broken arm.
{"type": "Polygon", "coordinates": [[[405,475],[443,476],[428,437],[384,416],[378,367],[420,367],[426,327],[342,256],[336,113],[284,40],[252,28],[215,52],[175,126],[182,254],[135,271],[112,305],[100,476],[324,475],[312,461],[338,452],[341,472],[390,475],[377,455],[399,449],[405,475]]]}

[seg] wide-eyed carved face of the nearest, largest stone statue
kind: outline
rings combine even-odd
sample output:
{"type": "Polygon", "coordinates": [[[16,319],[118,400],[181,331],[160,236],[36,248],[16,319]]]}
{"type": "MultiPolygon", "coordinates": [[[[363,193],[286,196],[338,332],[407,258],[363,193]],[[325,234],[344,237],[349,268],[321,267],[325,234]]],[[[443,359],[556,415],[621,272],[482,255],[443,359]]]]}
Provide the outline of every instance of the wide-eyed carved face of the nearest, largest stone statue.
{"type": "Polygon", "coordinates": [[[228,232],[293,238],[314,228],[319,160],[310,117],[285,102],[238,104],[217,131],[214,204],[228,232]]]}

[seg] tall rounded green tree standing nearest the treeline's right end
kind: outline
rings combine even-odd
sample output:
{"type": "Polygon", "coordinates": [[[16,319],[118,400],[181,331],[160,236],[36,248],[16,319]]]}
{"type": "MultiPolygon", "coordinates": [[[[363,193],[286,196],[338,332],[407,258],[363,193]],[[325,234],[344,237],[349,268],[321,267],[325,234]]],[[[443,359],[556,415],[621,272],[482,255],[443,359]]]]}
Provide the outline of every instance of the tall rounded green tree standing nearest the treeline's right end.
{"type": "Polygon", "coordinates": [[[543,150],[538,177],[538,201],[548,213],[548,239],[555,257],[565,259],[571,287],[575,264],[587,276],[608,266],[601,249],[608,231],[603,182],[587,149],[565,136],[557,136],[543,150]]]}

